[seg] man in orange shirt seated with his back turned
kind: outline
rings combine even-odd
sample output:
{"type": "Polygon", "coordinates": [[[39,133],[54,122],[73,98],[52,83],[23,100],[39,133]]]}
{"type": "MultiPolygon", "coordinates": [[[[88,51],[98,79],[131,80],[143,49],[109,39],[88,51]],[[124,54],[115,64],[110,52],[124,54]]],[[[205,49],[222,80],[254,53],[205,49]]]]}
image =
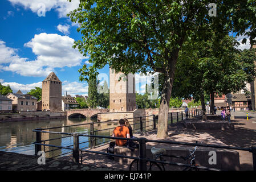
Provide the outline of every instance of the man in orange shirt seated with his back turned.
{"type": "MultiPolygon", "coordinates": [[[[119,120],[120,126],[115,127],[112,137],[130,138],[129,129],[125,126],[124,119],[119,120]]],[[[127,146],[127,140],[116,139],[117,146],[127,146]]]]}

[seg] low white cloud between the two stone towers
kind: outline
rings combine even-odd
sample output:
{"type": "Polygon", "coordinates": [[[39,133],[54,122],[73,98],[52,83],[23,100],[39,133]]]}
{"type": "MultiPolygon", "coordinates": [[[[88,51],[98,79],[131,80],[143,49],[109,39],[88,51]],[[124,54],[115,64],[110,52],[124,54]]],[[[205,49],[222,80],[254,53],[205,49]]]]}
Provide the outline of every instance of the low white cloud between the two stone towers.
{"type": "Polygon", "coordinates": [[[62,95],[66,94],[66,91],[68,94],[75,95],[75,94],[83,94],[87,95],[88,93],[88,85],[87,82],[69,82],[69,81],[63,81],[62,82],[62,95]]]}

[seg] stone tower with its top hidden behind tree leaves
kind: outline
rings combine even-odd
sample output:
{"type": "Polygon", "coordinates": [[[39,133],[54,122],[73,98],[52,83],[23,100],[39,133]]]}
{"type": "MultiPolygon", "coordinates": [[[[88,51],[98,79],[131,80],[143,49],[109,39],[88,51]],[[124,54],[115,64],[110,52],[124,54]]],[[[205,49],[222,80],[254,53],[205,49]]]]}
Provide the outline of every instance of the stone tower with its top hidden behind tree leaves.
{"type": "Polygon", "coordinates": [[[129,73],[125,76],[124,73],[116,73],[109,68],[109,77],[109,112],[135,110],[135,75],[129,73]]]}

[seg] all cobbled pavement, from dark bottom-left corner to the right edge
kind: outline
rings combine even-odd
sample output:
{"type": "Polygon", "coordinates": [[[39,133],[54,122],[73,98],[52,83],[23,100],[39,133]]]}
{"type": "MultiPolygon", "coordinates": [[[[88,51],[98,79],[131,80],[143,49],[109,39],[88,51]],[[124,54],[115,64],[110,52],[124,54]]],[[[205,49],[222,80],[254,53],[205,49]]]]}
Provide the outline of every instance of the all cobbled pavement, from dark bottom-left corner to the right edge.
{"type": "MultiPolygon", "coordinates": [[[[242,112],[235,112],[237,117],[243,117],[242,112]]],[[[249,121],[243,118],[233,120],[234,130],[194,130],[169,126],[166,140],[195,142],[204,141],[206,144],[221,144],[236,147],[256,146],[256,123],[254,116],[249,121]]],[[[255,115],[256,118],[256,115],[255,115]]],[[[135,137],[157,139],[156,131],[134,134],[135,137]]],[[[94,151],[106,152],[108,146],[95,148],[94,151]]],[[[161,147],[161,146],[156,146],[161,147]]],[[[247,151],[238,151],[241,170],[252,170],[252,155],[247,151]]],[[[72,156],[64,156],[59,159],[47,159],[46,165],[38,165],[38,156],[15,154],[0,151],[0,170],[128,170],[130,163],[119,163],[108,159],[105,155],[83,152],[83,164],[72,163],[72,156]]],[[[180,170],[173,166],[169,170],[180,170]]]]}

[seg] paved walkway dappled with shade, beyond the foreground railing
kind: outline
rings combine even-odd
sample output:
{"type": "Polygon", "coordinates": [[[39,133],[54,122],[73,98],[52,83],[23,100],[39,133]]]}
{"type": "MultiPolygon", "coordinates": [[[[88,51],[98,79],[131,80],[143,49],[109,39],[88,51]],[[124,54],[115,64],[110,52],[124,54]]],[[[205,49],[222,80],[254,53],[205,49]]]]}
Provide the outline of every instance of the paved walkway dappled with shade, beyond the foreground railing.
{"type": "MultiPolygon", "coordinates": [[[[168,134],[169,138],[166,140],[178,141],[178,142],[196,142],[203,141],[206,144],[220,144],[227,146],[235,147],[251,147],[256,146],[256,123],[251,119],[246,121],[246,119],[235,119],[234,121],[235,128],[234,130],[194,130],[194,129],[185,129],[177,128],[176,125],[169,126],[168,134]]],[[[134,134],[135,137],[145,137],[147,139],[157,139],[156,131],[149,131],[147,133],[134,134]]],[[[156,143],[147,143],[147,145],[155,147],[163,147],[167,144],[156,144],[156,143]]],[[[108,146],[102,146],[95,148],[94,151],[106,152],[108,146]]],[[[188,147],[191,149],[193,147],[188,147]]],[[[240,160],[240,169],[241,170],[252,170],[252,155],[247,151],[238,151],[239,160],[240,160]]],[[[72,160],[71,156],[65,156],[64,159],[72,160]]],[[[83,152],[83,163],[84,164],[93,164],[95,166],[101,166],[104,168],[117,168],[121,170],[128,170],[129,163],[120,164],[116,160],[108,159],[105,155],[92,154],[89,152],[83,152]]],[[[168,170],[180,170],[182,168],[177,166],[172,166],[168,170]]]]}

